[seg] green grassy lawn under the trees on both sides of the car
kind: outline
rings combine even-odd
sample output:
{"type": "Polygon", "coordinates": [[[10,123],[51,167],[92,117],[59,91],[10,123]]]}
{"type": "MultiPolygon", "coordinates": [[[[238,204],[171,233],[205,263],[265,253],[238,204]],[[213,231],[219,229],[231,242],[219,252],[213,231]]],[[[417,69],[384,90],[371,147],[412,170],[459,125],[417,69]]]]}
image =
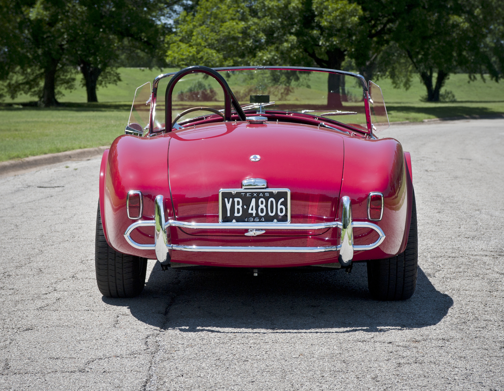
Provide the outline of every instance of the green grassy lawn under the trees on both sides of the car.
{"type": "MultiPolygon", "coordinates": [[[[79,148],[110,145],[123,134],[136,87],[172,69],[122,68],[117,86],[98,90],[100,103],[86,103],[86,90],[66,92],[59,101],[64,107],[12,107],[33,101],[29,96],[6,100],[0,107],[0,161],[79,148]]],[[[394,89],[390,80],[376,83],[383,90],[389,119],[421,121],[426,118],[504,113],[504,88],[487,80],[467,83],[467,75],[452,75],[443,90],[452,91],[455,102],[426,103],[420,98],[425,88],[415,80],[408,91],[394,89]]],[[[326,90],[327,91],[327,90],[326,90]]]]}

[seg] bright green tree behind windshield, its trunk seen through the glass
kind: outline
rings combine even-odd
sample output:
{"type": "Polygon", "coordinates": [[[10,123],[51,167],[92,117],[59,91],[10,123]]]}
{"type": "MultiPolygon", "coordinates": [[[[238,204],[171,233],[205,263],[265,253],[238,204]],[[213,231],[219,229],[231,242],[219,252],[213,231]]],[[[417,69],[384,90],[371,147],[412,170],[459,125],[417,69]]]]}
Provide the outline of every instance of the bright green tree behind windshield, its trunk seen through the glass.
{"type": "MultiPolygon", "coordinates": [[[[182,13],[167,62],[186,66],[279,64],[340,69],[359,34],[358,5],[347,0],[204,0],[182,13]]],[[[340,78],[330,75],[328,106],[340,107],[340,78]]]]}

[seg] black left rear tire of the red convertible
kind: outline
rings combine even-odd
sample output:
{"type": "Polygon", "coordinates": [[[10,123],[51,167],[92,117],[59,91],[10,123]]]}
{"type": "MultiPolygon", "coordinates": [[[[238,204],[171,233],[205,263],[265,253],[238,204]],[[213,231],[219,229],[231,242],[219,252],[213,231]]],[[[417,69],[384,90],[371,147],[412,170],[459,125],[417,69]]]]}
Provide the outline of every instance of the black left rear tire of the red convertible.
{"type": "Polygon", "coordinates": [[[100,205],[96,215],[96,282],[103,296],[135,297],[145,285],[147,258],[122,254],[110,247],[103,234],[100,205]]]}

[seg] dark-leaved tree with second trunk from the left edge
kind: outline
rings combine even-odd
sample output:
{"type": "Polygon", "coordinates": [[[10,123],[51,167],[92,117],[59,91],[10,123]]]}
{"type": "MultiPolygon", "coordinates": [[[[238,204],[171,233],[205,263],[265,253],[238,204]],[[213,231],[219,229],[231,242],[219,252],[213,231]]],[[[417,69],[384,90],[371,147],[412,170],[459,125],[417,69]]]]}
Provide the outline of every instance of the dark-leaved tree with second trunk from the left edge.
{"type": "Polygon", "coordinates": [[[72,3],[76,15],[70,56],[82,75],[88,102],[97,102],[99,85],[120,80],[116,65],[125,48],[158,58],[166,25],[159,23],[181,0],[81,0],[72,3]]]}

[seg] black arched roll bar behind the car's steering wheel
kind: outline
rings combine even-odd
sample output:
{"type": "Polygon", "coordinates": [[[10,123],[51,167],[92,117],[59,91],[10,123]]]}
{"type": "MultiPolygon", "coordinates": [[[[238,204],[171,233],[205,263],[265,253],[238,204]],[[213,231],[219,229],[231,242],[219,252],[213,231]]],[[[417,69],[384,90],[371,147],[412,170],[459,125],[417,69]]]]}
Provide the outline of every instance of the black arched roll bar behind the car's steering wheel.
{"type": "Polygon", "coordinates": [[[172,107],[171,95],[173,92],[173,88],[175,87],[175,84],[185,75],[192,73],[204,73],[208,76],[213,77],[221,85],[222,90],[224,92],[224,121],[231,120],[231,104],[233,105],[233,108],[236,110],[236,113],[238,114],[240,121],[245,120],[246,118],[245,113],[241,109],[239,102],[236,100],[226,80],[212,68],[204,67],[202,65],[196,65],[178,71],[175,75],[173,75],[171,80],[168,82],[168,86],[166,87],[166,93],[165,93],[165,118],[164,118],[164,124],[165,124],[164,126],[166,132],[171,132],[171,128],[168,129],[168,127],[171,127],[171,107],[172,107]]]}

